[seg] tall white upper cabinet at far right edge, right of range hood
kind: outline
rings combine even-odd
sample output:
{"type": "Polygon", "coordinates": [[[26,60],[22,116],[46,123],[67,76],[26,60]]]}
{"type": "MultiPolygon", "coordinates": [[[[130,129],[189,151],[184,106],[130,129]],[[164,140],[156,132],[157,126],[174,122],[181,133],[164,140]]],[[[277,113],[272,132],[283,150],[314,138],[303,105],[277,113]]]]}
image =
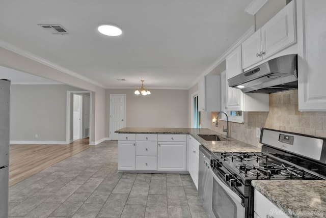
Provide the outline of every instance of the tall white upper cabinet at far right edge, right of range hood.
{"type": "Polygon", "coordinates": [[[325,8],[324,0],[297,0],[300,111],[326,111],[325,8]]]}

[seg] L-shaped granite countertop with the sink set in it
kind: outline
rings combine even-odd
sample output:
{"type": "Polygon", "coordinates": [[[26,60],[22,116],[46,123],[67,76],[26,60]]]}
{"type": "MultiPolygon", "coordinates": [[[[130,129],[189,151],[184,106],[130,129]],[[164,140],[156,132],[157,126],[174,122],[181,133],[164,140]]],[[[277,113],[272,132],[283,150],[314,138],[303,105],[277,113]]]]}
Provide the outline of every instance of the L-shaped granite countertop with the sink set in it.
{"type": "Polygon", "coordinates": [[[143,134],[191,134],[201,145],[212,152],[260,152],[261,148],[249,145],[207,128],[147,128],[126,127],[117,130],[118,133],[143,133],[143,134]],[[223,141],[206,141],[198,134],[216,134],[223,141]]]}

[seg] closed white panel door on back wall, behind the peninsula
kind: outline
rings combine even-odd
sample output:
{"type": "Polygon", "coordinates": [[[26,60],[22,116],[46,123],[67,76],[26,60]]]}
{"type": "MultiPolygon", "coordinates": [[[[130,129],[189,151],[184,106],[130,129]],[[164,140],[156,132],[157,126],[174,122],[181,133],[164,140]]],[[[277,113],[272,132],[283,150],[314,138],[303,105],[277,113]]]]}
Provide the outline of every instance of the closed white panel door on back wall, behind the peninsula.
{"type": "Polygon", "coordinates": [[[125,99],[126,95],[110,95],[110,140],[118,140],[118,133],[115,131],[125,127],[125,99]]]}

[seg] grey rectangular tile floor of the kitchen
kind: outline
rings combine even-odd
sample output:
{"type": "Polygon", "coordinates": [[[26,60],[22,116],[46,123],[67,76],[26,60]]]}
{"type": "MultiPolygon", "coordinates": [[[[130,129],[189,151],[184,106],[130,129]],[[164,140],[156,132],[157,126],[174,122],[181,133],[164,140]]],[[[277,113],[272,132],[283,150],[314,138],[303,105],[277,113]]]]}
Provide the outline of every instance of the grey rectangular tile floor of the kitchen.
{"type": "Polygon", "coordinates": [[[9,188],[9,217],[206,217],[188,174],[117,173],[105,141],[9,188]]]}

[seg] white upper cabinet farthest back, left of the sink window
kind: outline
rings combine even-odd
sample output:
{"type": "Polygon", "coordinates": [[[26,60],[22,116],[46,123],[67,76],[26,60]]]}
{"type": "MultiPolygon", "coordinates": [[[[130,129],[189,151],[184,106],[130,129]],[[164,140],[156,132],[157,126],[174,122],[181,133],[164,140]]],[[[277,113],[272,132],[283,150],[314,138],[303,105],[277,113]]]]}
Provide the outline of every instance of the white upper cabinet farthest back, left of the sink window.
{"type": "Polygon", "coordinates": [[[219,75],[206,75],[198,81],[198,110],[221,111],[221,80],[219,75]]]}

